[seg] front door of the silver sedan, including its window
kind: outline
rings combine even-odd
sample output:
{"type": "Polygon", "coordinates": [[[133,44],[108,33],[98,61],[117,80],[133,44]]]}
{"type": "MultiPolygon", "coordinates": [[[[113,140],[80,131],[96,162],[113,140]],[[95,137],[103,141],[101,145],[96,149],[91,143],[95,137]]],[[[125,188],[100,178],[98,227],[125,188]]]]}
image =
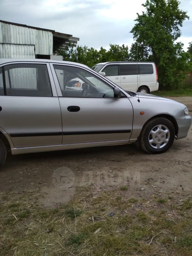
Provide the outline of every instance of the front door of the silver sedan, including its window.
{"type": "MultiPolygon", "coordinates": [[[[123,93],[122,98],[114,98],[113,87],[86,68],[55,64],[52,69],[55,70],[55,79],[59,73],[57,70],[62,69],[64,82],[67,74],[68,81],[77,77],[84,88],[81,92],[61,90],[62,144],[129,141],[133,110],[130,100],[123,93]]],[[[61,80],[55,82],[60,88],[65,88],[61,80]]]]}

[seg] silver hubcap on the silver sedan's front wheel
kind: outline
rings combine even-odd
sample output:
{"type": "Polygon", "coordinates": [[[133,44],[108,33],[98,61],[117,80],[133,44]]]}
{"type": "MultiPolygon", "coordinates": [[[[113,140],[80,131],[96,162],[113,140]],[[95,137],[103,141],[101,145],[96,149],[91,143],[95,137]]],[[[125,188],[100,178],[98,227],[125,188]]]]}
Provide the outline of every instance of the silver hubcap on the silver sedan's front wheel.
{"type": "Polygon", "coordinates": [[[151,129],[148,136],[148,142],[152,148],[163,148],[170,139],[169,129],[162,124],[156,125],[151,129]]]}

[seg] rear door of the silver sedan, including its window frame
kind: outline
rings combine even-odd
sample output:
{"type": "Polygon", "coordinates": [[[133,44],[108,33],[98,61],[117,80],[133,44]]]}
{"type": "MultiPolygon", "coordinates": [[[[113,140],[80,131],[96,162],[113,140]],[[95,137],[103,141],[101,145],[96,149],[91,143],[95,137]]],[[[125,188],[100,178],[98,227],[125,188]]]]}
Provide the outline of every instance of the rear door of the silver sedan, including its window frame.
{"type": "Polygon", "coordinates": [[[14,147],[61,144],[60,104],[53,78],[49,77],[50,66],[16,62],[1,69],[4,95],[0,96],[0,127],[9,134],[14,147]]]}

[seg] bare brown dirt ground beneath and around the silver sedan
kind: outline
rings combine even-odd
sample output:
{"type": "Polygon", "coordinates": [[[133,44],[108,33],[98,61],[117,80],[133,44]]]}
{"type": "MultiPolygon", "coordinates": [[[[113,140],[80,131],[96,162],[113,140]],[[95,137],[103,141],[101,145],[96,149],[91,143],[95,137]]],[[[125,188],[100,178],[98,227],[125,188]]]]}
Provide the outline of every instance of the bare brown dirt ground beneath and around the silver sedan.
{"type": "MultiPolygon", "coordinates": [[[[188,106],[192,97],[174,97],[188,106]]],[[[54,207],[70,200],[80,186],[102,190],[127,186],[126,196],[191,195],[192,127],[164,154],[148,155],[133,145],[8,156],[0,171],[0,192],[36,190],[40,203],[54,207]]]]}

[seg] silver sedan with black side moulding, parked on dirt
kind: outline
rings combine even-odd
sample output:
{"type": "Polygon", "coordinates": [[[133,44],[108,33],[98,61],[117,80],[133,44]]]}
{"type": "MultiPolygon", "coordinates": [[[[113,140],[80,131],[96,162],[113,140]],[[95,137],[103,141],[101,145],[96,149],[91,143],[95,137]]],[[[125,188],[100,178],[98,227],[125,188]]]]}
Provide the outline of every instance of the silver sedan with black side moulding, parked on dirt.
{"type": "Polygon", "coordinates": [[[0,165],[9,150],[24,154],[138,141],[150,154],[163,153],[174,139],[187,136],[190,125],[185,105],[124,91],[87,66],[0,59],[0,165]]]}

